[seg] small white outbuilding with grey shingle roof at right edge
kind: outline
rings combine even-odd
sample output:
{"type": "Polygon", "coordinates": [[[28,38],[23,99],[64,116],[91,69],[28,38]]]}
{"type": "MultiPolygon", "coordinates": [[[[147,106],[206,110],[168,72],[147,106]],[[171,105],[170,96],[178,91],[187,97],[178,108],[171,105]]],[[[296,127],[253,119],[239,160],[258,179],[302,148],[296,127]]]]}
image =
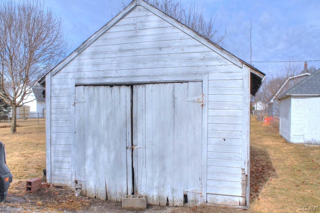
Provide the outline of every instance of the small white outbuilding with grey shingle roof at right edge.
{"type": "Polygon", "coordinates": [[[278,99],[280,135],[292,143],[320,144],[320,69],[278,99]]]}

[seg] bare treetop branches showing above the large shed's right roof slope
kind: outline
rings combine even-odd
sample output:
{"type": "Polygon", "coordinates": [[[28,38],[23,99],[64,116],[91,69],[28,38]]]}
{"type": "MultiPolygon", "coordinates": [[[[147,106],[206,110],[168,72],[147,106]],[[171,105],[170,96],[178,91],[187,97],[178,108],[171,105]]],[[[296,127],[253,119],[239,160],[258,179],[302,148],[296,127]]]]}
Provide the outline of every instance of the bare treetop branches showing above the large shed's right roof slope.
{"type": "MultiPolygon", "coordinates": [[[[144,0],[154,7],[158,8],[165,14],[173,17],[177,21],[190,27],[194,31],[198,32],[207,39],[213,41],[216,44],[222,44],[223,38],[226,34],[224,32],[219,34],[221,24],[215,27],[215,18],[210,17],[206,20],[203,15],[203,8],[199,9],[195,3],[191,3],[189,7],[184,8],[179,0],[144,0]]],[[[123,6],[126,4],[122,0],[123,6]]]]}

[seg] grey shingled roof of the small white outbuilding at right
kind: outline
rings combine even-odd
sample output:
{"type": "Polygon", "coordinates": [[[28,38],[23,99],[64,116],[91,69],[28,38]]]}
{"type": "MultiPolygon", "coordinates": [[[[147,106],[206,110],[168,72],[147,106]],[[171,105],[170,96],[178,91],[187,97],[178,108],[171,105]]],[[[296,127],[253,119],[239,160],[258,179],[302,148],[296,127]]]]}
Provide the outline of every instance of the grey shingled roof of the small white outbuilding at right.
{"type": "Polygon", "coordinates": [[[288,95],[320,96],[320,69],[288,89],[281,97],[279,97],[279,99],[288,95]]]}

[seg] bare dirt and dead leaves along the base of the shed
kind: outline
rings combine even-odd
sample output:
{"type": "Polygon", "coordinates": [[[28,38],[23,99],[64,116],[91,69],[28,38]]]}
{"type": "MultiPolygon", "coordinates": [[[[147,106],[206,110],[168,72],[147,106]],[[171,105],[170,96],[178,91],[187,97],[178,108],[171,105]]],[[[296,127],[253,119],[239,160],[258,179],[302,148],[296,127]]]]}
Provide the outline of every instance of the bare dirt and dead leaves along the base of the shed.
{"type": "MultiPolygon", "coordinates": [[[[251,147],[250,203],[259,199],[259,192],[275,170],[264,149],[251,147]]],[[[12,182],[6,200],[1,203],[2,212],[248,212],[228,207],[169,207],[148,205],[145,211],[121,209],[120,202],[75,196],[68,188],[47,187],[34,192],[25,191],[25,181],[12,182]]]]}

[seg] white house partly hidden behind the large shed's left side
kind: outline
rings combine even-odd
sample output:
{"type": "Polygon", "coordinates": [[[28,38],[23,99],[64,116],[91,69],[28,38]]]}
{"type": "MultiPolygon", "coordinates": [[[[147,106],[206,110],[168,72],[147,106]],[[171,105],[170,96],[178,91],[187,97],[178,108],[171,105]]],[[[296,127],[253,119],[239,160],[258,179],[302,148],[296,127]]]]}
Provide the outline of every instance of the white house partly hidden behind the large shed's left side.
{"type": "Polygon", "coordinates": [[[32,86],[24,97],[21,106],[16,108],[16,118],[45,117],[45,88],[32,86]]]}

